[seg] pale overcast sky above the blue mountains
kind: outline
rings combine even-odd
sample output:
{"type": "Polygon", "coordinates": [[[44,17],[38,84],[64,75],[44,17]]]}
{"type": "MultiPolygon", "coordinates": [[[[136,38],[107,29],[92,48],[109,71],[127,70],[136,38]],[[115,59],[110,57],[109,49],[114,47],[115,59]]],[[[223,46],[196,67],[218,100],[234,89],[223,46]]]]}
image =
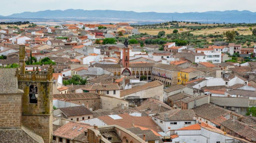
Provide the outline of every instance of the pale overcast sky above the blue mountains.
{"type": "Polygon", "coordinates": [[[43,10],[124,10],[136,12],[205,12],[249,10],[255,0],[0,0],[0,15],[43,10]]]}

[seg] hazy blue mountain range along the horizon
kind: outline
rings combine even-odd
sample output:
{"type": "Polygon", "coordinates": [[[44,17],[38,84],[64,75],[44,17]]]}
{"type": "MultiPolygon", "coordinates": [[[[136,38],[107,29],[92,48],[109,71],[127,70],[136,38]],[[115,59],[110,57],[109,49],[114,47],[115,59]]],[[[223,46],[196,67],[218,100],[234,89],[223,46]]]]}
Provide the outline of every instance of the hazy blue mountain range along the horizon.
{"type": "MultiPolygon", "coordinates": [[[[0,18],[2,18],[0,16],[0,18]]],[[[116,10],[45,10],[38,12],[22,12],[12,14],[5,18],[30,18],[30,19],[104,19],[127,21],[189,21],[209,23],[256,23],[256,12],[251,11],[207,11],[185,13],[159,13],[159,12],[134,12],[116,10]]]]}

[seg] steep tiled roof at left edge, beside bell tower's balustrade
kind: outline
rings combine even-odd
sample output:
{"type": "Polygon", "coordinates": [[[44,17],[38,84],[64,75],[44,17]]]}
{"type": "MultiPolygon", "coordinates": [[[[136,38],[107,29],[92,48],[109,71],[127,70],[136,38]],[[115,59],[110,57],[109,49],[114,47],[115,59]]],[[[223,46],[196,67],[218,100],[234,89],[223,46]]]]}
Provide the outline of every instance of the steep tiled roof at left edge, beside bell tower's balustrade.
{"type": "Polygon", "coordinates": [[[16,69],[0,68],[0,85],[0,94],[19,93],[16,69]]]}

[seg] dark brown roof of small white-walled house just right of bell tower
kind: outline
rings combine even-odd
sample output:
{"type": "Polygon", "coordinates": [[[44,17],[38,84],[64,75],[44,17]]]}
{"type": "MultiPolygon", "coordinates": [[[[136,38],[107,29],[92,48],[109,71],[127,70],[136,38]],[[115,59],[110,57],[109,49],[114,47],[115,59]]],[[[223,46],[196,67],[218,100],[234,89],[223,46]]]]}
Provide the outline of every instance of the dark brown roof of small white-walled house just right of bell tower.
{"type": "Polygon", "coordinates": [[[88,110],[85,106],[74,106],[59,108],[65,115],[69,116],[82,116],[82,115],[92,115],[92,112],[88,110]]]}

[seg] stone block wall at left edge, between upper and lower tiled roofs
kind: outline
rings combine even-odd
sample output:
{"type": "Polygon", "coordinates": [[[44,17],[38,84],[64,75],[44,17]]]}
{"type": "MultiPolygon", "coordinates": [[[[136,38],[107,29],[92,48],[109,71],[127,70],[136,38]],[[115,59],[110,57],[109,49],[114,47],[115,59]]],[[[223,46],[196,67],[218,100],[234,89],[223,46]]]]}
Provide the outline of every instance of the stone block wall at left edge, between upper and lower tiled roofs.
{"type": "Polygon", "coordinates": [[[21,127],[22,94],[0,94],[0,127],[21,127]]]}

